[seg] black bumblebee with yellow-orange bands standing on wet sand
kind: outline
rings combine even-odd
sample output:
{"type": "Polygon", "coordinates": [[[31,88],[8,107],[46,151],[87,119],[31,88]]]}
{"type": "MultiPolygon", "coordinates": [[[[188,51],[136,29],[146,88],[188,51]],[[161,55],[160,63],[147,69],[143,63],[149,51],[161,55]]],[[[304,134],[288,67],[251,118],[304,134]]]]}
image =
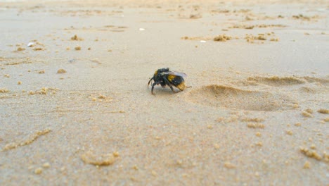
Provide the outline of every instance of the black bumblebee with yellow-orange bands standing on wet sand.
{"type": "Polygon", "coordinates": [[[155,85],[161,85],[162,87],[165,87],[166,85],[168,85],[170,87],[170,89],[172,89],[172,92],[176,93],[176,91],[174,90],[174,87],[180,89],[181,91],[183,91],[183,89],[185,89],[186,85],[184,82],[184,78],[187,75],[185,73],[179,73],[179,72],[175,72],[175,71],[170,71],[169,68],[160,68],[157,69],[153,75],[152,78],[150,78],[150,80],[148,81],[148,86],[150,85],[150,82],[152,83],[152,90],[151,93],[153,93],[153,89],[155,85]]]}

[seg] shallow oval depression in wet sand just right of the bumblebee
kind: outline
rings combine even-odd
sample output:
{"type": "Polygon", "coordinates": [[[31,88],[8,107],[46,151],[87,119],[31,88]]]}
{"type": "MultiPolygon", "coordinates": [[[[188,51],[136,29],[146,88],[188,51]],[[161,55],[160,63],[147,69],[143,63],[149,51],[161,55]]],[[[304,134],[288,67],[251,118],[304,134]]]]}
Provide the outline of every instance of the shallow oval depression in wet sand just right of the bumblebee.
{"type": "Polygon", "coordinates": [[[278,111],[291,109],[287,95],[273,92],[238,89],[225,85],[207,85],[188,94],[188,101],[214,107],[249,111],[278,111]]]}

